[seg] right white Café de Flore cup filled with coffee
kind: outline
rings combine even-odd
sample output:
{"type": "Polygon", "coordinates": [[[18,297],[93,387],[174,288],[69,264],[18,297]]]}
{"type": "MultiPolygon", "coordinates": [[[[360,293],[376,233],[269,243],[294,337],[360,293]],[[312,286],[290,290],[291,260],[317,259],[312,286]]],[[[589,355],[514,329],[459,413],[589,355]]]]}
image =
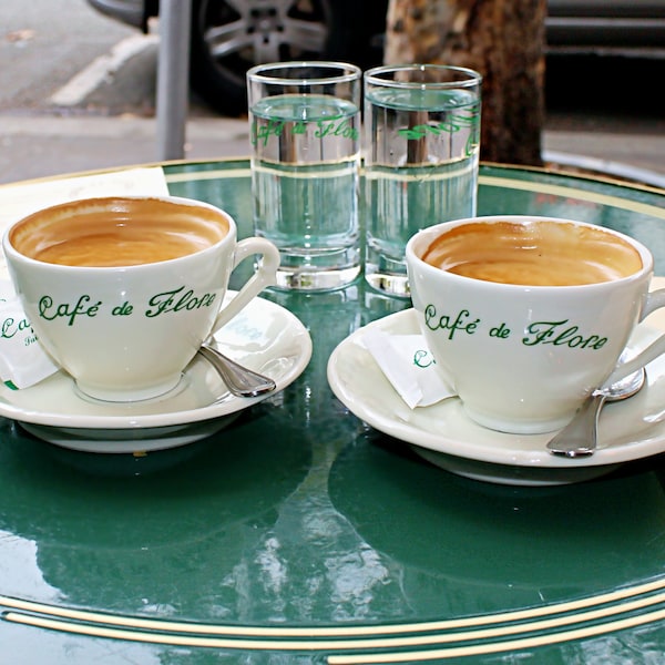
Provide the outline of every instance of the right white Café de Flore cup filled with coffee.
{"type": "Polygon", "coordinates": [[[467,415],[491,429],[555,430],[594,389],[665,351],[661,337],[617,366],[637,324],[665,306],[665,289],[649,293],[651,253],[614,231],[474,217],[419,232],[406,256],[437,366],[467,415]]]}

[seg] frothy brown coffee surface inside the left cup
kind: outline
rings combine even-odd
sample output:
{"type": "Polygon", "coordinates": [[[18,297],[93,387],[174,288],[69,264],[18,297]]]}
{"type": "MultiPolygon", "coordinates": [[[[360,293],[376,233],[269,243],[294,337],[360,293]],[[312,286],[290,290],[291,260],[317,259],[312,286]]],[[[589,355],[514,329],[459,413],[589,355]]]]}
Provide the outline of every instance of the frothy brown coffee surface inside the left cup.
{"type": "Polygon", "coordinates": [[[12,229],[10,241],[44,263],[121,267],[194,254],[228,228],[214,209],[156,198],[93,200],[35,213],[12,229]]]}

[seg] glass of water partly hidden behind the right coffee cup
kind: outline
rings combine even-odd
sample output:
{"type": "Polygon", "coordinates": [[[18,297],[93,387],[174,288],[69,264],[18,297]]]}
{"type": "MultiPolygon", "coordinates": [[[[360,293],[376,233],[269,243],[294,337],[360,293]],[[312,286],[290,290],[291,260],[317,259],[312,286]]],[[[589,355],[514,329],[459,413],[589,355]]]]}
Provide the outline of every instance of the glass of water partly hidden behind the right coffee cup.
{"type": "Polygon", "coordinates": [[[365,73],[365,276],[410,295],[405,247],[432,224],[475,215],[481,75],[437,64],[365,73]]]}

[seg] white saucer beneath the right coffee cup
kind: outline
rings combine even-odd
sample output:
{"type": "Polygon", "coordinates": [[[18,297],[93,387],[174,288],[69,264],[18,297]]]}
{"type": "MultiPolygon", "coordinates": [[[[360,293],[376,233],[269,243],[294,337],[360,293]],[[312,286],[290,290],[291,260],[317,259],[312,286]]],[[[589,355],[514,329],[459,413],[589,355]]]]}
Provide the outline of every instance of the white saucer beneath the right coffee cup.
{"type": "MultiPolygon", "coordinates": [[[[545,450],[553,436],[508,434],[470,420],[458,398],[411,410],[395,391],[362,344],[367,329],[418,334],[413,309],[376,320],[345,339],[328,361],[337,398],[377,430],[415,444],[430,462],[453,473],[507,484],[560,484],[589,480],[616,466],[665,451],[665,358],[647,366],[648,383],[630,400],[607,405],[600,423],[600,448],[591,457],[566,459],[545,450]]],[[[641,326],[631,347],[646,346],[661,330],[641,326]]]]}

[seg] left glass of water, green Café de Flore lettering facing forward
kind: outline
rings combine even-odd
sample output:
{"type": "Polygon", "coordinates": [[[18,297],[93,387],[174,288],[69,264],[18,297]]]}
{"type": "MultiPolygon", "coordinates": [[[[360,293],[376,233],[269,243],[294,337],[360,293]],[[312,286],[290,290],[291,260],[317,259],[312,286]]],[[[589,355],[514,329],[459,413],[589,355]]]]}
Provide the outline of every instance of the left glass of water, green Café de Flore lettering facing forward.
{"type": "Polygon", "coordinates": [[[360,274],[361,86],[342,62],[247,72],[254,231],[279,248],[277,288],[337,288],[360,274]]]}

